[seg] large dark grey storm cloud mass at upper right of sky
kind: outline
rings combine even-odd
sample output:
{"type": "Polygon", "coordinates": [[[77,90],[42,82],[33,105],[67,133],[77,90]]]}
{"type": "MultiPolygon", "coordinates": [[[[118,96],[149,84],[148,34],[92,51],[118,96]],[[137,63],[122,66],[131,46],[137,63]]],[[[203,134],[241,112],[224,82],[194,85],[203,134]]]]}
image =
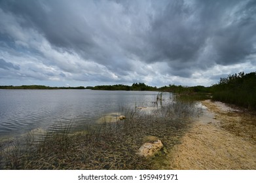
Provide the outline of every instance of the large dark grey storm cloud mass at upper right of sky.
{"type": "Polygon", "coordinates": [[[245,61],[256,51],[255,7],[241,1],[170,1],[152,24],[157,54],[148,61],[167,61],[176,71],[245,61]]]}

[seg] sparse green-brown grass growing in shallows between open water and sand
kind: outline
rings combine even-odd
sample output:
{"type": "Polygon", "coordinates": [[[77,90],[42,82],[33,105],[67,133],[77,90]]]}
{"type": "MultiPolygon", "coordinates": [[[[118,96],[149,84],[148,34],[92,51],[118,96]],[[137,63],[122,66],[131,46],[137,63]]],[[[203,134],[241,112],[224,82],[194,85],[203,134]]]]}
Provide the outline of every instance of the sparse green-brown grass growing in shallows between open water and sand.
{"type": "Polygon", "coordinates": [[[193,103],[176,101],[149,114],[136,108],[121,112],[125,120],[115,123],[78,127],[57,122],[43,135],[28,133],[23,140],[5,142],[0,169],[168,169],[166,153],[179,143],[198,111],[193,103]],[[153,158],[136,154],[147,136],[164,144],[153,158]]]}

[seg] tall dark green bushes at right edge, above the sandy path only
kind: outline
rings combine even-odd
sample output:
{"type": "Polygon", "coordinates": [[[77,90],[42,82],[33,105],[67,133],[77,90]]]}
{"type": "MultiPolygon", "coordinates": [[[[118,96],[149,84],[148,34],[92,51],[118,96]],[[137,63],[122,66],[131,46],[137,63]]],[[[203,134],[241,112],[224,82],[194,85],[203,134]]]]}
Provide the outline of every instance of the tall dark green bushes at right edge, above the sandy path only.
{"type": "Polygon", "coordinates": [[[211,86],[213,100],[256,110],[256,73],[244,72],[221,78],[211,86]]]}

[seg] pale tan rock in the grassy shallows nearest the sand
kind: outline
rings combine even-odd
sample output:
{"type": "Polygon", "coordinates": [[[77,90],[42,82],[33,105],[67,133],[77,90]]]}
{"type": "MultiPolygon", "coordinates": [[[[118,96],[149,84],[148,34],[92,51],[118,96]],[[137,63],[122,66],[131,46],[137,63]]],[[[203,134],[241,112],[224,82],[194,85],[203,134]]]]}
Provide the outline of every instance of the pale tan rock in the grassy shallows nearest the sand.
{"type": "Polygon", "coordinates": [[[144,156],[147,158],[149,156],[155,155],[163,146],[164,145],[160,140],[157,140],[153,143],[145,142],[145,144],[143,144],[139,148],[139,152],[137,154],[139,154],[139,156],[144,156]]]}

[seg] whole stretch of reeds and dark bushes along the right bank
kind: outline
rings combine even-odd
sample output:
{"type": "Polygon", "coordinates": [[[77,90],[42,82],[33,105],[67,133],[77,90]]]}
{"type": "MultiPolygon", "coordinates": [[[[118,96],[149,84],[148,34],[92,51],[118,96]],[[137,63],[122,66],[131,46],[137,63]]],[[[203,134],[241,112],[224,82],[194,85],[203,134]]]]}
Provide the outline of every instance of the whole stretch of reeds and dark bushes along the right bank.
{"type": "Polygon", "coordinates": [[[159,88],[164,92],[176,93],[180,99],[203,100],[213,99],[256,110],[256,73],[244,72],[220,78],[218,84],[204,86],[175,86],[169,85],[159,88]]]}

